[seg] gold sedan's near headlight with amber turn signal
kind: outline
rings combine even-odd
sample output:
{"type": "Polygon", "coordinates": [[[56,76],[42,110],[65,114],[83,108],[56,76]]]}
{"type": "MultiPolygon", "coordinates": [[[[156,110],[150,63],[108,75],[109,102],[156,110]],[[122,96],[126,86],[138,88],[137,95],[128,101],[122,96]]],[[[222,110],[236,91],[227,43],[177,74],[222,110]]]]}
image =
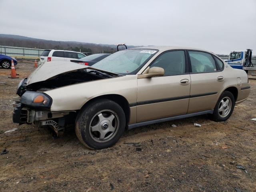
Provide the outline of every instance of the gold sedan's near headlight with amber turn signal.
{"type": "Polygon", "coordinates": [[[32,107],[50,108],[52,105],[52,98],[45,93],[26,91],[22,95],[20,102],[22,104],[32,106],[32,107]]]}

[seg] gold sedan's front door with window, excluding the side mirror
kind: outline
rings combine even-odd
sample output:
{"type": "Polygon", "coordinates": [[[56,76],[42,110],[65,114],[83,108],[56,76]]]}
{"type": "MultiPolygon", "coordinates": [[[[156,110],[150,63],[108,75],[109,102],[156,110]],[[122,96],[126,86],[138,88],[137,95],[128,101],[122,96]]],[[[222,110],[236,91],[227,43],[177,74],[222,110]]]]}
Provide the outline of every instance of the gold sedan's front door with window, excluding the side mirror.
{"type": "Polygon", "coordinates": [[[164,52],[150,67],[164,68],[164,76],[138,79],[137,122],[186,114],[190,74],[184,50],[164,52]]]}

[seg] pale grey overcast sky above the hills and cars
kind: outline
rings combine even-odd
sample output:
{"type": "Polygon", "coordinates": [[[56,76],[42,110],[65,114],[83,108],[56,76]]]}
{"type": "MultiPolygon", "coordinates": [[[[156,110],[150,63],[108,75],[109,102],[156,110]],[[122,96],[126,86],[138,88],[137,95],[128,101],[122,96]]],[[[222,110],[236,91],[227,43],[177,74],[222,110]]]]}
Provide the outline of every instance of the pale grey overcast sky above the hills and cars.
{"type": "Polygon", "coordinates": [[[0,34],[256,55],[256,0],[0,0],[0,34]]]}

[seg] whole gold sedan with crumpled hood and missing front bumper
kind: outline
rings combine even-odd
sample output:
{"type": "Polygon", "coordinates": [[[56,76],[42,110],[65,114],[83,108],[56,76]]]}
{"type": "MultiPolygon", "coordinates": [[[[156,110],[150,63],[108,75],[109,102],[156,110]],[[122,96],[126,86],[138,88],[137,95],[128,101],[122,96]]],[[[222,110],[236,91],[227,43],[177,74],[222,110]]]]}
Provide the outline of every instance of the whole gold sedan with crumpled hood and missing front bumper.
{"type": "Polygon", "coordinates": [[[250,93],[246,72],[205,50],[148,46],[116,52],[93,66],[46,62],[18,86],[13,121],[75,125],[92,149],[108,148],[125,128],[210,114],[226,121],[250,93]]]}

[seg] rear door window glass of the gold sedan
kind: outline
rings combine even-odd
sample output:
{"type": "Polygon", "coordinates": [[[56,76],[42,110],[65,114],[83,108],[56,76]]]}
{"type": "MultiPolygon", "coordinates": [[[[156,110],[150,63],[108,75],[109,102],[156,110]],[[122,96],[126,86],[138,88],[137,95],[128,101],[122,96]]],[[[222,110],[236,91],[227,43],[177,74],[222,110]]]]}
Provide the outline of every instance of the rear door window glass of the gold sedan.
{"type": "Polygon", "coordinates": [[[215,72],[216,65],[211,54],[199,51],[188,51],[192,73],[215,72]]]}

